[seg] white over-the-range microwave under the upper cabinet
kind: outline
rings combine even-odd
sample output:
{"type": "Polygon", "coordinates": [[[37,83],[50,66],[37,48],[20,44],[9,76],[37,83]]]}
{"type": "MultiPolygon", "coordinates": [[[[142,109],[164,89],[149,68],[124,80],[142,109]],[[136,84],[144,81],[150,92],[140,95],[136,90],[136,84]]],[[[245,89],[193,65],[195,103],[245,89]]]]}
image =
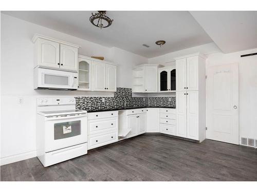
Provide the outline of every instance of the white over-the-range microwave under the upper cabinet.
{"type": "Polygon", "coordinates": [[[36,67],[34,89],[77,90],[78,73],[36,67]]]}

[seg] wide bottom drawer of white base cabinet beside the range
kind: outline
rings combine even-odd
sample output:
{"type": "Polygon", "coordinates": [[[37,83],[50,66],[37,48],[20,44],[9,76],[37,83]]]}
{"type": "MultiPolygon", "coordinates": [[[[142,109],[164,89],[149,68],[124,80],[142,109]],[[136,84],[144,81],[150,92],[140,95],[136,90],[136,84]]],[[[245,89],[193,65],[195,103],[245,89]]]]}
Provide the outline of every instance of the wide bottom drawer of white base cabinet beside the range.
{"type": "Polygon", "coordinates": [[[118,141],[118,132],[107,132],[88,136],[88,150],[118,141]]]}

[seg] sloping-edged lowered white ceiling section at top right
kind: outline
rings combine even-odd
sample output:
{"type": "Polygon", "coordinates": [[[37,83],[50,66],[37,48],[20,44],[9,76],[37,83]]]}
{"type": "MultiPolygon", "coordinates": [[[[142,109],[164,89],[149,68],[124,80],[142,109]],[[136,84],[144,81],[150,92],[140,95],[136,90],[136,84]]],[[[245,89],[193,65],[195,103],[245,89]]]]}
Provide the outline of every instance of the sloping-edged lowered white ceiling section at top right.
{"type": "Polygon", "coordinates": [[[257,48],[257,11],[190,11],[224,53],[257,48]]]}

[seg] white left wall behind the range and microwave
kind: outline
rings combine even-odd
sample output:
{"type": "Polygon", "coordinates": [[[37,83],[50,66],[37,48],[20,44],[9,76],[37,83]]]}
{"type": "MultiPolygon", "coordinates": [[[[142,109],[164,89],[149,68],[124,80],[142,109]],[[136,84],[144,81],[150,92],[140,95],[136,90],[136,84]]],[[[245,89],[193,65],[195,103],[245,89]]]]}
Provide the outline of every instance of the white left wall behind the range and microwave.
{"type": "Polygon", "coordinates": [[[1,164],[35,157],[36,98],[113,96],[113,93],[33,90],[34,33],[80,45],[79,54],[117,62],[118,87],[131,87],[132,68],[148,59],[107,48],[24,20],[1,14],[1,164]],[[19,98],[24,99],[19,104],[19,98]]]}

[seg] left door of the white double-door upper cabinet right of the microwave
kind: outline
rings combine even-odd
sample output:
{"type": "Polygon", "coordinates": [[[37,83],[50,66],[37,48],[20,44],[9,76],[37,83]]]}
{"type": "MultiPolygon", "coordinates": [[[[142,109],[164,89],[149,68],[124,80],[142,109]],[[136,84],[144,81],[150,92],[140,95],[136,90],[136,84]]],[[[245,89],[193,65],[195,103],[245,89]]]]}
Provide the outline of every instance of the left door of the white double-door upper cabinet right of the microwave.
{"type": "Polygon", "coordinates": [[[106,91],[105,64],[94,61],[94,91],[106,91]]]}

